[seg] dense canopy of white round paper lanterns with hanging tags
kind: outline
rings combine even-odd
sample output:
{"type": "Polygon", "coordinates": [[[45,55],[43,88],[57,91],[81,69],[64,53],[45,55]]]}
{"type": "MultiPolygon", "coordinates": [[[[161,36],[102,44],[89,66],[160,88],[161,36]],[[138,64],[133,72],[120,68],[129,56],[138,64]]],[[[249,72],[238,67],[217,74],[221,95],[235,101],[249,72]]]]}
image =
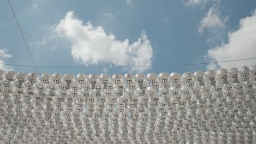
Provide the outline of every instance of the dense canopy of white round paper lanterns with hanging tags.
{"type": "Polygon", "coordinates": [[[144,74],[0,71],[4,143],[253,143],[256,66],[144,74]]]}

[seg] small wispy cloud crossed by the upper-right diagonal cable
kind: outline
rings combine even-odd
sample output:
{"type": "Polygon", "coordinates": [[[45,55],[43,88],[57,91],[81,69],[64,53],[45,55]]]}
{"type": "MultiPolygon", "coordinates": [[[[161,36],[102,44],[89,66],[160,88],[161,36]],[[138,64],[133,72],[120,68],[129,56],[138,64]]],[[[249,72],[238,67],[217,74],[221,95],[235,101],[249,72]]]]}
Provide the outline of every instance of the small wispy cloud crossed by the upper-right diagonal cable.
{"type": "Polygon", "coordinates": [[[205,17],[202,18],[200,21],[200,26],[198,27],[198,32],[202,34],[204,31],[208,31],[210,33],[218,33],[223,28],[225,28],[225,23],[228,21],[228,17],[220,17],[220,11],[218,8],[214,10],[214,7],[210,8],[208,12],[205,14],[205,17]],[[210,20],[212,15],[211,21],[207,27],[207,24],[210,20]],[[206,29],[207,28],[207,29],[206,29]]]}

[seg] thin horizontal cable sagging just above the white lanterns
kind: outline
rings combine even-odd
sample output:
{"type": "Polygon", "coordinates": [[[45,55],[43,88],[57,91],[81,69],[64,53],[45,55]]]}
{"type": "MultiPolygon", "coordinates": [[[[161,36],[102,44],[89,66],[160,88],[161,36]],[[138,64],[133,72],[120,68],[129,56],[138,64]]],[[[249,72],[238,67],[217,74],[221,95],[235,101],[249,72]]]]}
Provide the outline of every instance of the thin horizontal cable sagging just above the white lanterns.
{"type": "MultiPolygon", "coordinates": [[[[254,58],[244,58],[244,59],[234,59],[229,61],[216,61],[216,62],[205,62],[205,63],[188,63],[188,64],[167,64],[167,65],[120,65],[120,66],[37,66],[37,68],[122,68],[122,67],[176,67],[176,66],[191,66],[191,65],[202,65],[202,64],[211,64],[211,63],[226,63],[226,62],[235,62],[235,61],[245,61],[254,58]]],[[[17,67],[30,67],[34,68],[32,65],[20,65],[20,64],[7,64],[0,63],[2,65],[11,65],[17,67]]]]}

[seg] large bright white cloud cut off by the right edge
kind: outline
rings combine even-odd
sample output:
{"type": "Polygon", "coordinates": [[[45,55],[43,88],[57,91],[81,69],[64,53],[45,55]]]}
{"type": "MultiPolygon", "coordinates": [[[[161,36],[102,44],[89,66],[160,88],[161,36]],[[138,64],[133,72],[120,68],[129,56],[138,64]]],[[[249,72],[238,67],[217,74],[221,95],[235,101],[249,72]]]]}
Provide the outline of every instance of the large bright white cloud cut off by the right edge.
{"type": "MultiPolygon", "coordinates": [[[[256,9],[252,16],[240,20],[237,31],[229,32],[228,43],[223,43],[208,50],[206,59],[210,61],[226,61],[233,59],[253,58],[256,53],[256,9]]],[[[242,67],[243,65],[255,65],[256,60],[236,61],[211,64],[207,69],[242,67]]]]}

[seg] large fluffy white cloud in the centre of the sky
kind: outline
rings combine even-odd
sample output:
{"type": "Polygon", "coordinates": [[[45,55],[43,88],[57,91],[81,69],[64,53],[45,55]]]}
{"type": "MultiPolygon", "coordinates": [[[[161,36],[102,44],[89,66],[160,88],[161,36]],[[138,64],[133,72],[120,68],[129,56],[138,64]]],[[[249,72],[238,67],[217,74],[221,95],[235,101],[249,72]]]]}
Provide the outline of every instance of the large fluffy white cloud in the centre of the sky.
{"type": "MultiPolygon", "coordinates": [[[[103,27],[84,24],[74,17],[73,11],[66,14],[55,28],[56,32],[72,43],[71,55],[74,61],[85,65],[151,65],[153,49],[145,32],[137,41],[117,40],[114,34],[107,34],[103,27]]],[[[132,71],[142,72],[149,67],[133,67],[132,71]]]]}

